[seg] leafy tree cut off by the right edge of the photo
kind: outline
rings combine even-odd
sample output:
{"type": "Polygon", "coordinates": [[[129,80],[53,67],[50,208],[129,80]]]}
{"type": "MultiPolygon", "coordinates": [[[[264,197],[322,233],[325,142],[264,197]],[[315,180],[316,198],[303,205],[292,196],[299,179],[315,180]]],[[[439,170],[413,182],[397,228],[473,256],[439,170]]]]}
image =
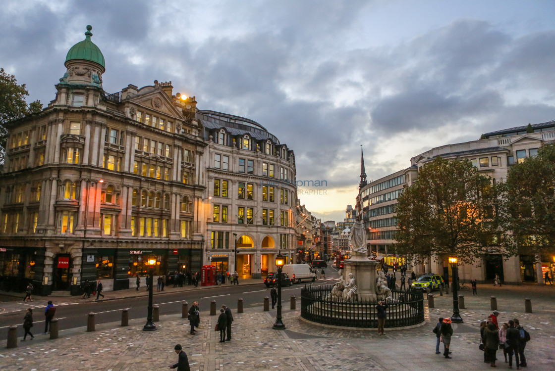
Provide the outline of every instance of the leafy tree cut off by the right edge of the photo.
{"type": "Polygon", "coordinates": [[[511,166],[504,184],[507,244],[525,254],[555,254],[555,143],[511,166]]]}

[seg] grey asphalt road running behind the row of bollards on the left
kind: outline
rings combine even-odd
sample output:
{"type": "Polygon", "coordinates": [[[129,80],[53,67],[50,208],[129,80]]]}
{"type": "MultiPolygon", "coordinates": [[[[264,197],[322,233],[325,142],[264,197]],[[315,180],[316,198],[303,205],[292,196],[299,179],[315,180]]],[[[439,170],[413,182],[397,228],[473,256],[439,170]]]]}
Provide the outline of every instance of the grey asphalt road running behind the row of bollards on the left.
{"type": "MultiPolygon", "coordinates": [[[[317,280],[315,285],[330,284],[331,280],[338,277],[337,271],[328,265],[326,269],[327,280],[317,280]]],[[[295,284],[292,287],[282,288],[282,303],[289,306],[289,298],[291,295],[300,298],[301,288],[305,284],[295,284]]],[[[24,296],[24,295],[23,295],[24,296]]],[[[220,287],[210,288],[208,290],[180,291],[168,292],[166,294],[155,295],[153,297],[154,305],[160,307],[160,317],[164,315],[175,315],[181,313],[183,302],[193,304],[193,301],[199,302],[201,313],[210,311],[210,302],[216,300],[216,308],[221,305],[228,305],[231,310],[236,310],[237,299],[243,298],[243,306],[260,307],[264,303],[264,297],[270,296],[270,289],[266,288],[262,283],[260,285],[222,285],[220,287]]],[[[76,327],[87,326],[87,315],[89,312],[95,313],[96,323],[118,322],[122,318],[122,310],[128,308],[129,320],[137,318],[147,318],[148,296],[136,298],[122,298],[109,301],[92,302],[64,302],[63,297],[48,298],[56,305],[56,317],[59,321],[60,331],[76,327]]],[[[74,299],[73,299],[74,300],[74,299]]],[[[23,316],[26,308],[33,308],[34,327],[31,332],[37,336],[44,331],[44,307],[46,300],[34,300],[33,302],[23,303],[23,300],[0,296],[0,339],[7,338],[7,329],[12,324],[18,326],[18,337],[23,337],[23,316]],[[21,332],[21,333],[20,333],[21,332]]]]}

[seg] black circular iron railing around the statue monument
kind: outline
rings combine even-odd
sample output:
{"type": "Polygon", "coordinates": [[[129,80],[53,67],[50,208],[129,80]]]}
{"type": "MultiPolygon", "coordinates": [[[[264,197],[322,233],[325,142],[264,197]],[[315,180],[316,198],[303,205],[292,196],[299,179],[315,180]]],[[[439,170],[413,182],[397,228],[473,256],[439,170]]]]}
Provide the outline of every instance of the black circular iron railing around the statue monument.
{"type": "MultiPolygon", "coordinates": [[[[377,328],[377,301],[331,300],[332,285],[305,286],[301,289],[301,317],[305,320],[341,327],[377,328]]],[[[424,320],[421,290],[393,290],[388,302],[386,328],[415,326],[424,320]]]]}

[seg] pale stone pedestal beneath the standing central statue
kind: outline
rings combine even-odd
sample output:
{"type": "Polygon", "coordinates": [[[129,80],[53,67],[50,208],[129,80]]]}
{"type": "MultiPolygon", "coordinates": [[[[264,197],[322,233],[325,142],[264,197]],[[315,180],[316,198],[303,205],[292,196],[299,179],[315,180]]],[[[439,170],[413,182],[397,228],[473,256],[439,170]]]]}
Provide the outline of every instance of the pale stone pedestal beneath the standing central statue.
{"type": "Polygon", "coordinates": [[[350,273],[355,276],[359,300],[376,301],[376,265],[379,262],[370,260],[366,254],[353,251],[351,259],[344,261],[345,277],[350,273]]]}

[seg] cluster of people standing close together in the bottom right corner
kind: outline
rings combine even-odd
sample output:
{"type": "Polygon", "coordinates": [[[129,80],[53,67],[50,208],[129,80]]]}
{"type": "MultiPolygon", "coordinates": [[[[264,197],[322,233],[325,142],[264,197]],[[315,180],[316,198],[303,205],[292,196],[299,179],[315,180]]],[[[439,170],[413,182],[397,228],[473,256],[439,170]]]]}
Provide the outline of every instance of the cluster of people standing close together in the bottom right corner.
{"type": "Polygon", "coordinates": [[[508,362],[510,368],[513,365],[513,355],[517,369],[526,367],[524,348],[530,339],[528,332],[521,326],[517,318],[503,322],[499,328],[497,316],[499,316],[499,312],[493,311],[487,321],[482,321],[480,324],[484,362],[490,363],[491,367],[497,367],[495,364],[496,353],[498,349],[502,349],[505,362],[508,362]]]}

